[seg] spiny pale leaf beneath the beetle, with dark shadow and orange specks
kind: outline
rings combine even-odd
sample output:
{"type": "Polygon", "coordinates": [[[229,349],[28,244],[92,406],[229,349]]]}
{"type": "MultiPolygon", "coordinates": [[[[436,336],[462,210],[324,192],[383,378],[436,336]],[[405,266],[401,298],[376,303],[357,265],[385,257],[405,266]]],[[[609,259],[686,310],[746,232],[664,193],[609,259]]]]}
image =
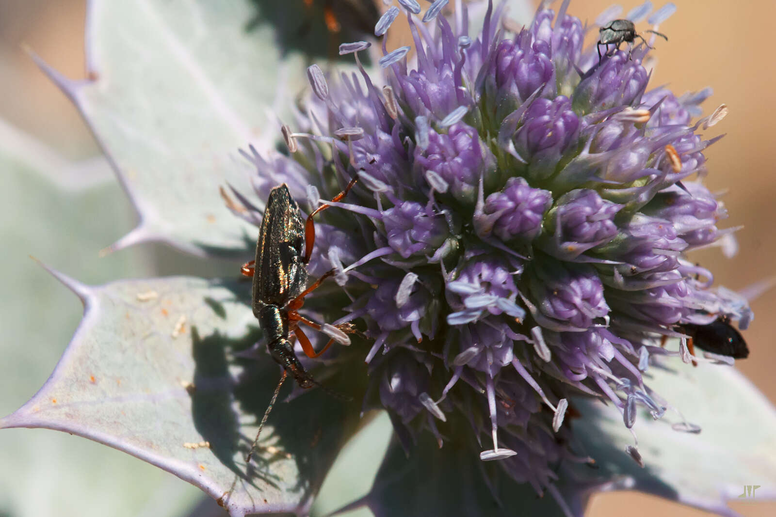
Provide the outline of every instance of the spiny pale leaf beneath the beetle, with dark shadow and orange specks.
{"type": "Polygon", "coordinates": [[[320,390],[279,403],[254,467],[245,464],[279,379],[268,357],[234,355],[257,338],[246,335],[255,323],[248,282],[173,277],[89,287],[57,275],[85,303],[84,319],[54,374],[0,426],[113,446],[195,484],[231,515],[309,507],[359,405],[320,390]]]}

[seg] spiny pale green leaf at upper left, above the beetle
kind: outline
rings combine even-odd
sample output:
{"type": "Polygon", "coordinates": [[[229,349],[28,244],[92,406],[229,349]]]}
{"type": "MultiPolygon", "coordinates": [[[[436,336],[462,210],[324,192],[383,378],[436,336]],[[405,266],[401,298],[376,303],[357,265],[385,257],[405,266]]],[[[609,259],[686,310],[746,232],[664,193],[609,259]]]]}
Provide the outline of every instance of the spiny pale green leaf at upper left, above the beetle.
{"type": "MultiPolygon", "coordinates": [[[[219,187],[248,191],[252,171],[237,150],[278,141],[276,117],[289,119],[306,84],[301,54],[277,44],[269,3],[93,0],[88,80],[70,81],[39,60],[92,126],[140,212],[116,248],[161,240],[205,255],[255,240],[219,187]]],[[[298,3],[286,9],[296,30],[298,3]]]]}

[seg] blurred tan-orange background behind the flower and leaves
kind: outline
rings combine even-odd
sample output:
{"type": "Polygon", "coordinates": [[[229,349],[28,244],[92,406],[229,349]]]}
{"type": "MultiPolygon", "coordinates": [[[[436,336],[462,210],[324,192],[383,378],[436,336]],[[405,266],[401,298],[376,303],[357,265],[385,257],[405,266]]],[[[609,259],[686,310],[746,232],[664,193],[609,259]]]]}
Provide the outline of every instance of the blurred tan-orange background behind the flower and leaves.
{"type": "MultiPolygon", "coordinates": [[[[625,12],[639,3],[625,3],[625,12]]],[[[744,226],[737,234],[740,254],[726,260],[719,251],[709,250],[696,257],[715,272],[719,284],[740,289],[776,274],[772,258],[776,253],[776,178],[770,154],[774,144],[767,136],[770,123],[776,120],[770,97],[776,80],[771,50],[776,2],[674,3],[677,13],[660,26],[669,41],[656,43],[654,55],[659,61],[652,84],[667,84],[677,94],[712,86],[715,94],[704,106],[705,112],[722,102],[729,106],[727,118],[713,128],[716,133],[710,133],[727,136],[706,152],[707,182],[712,191],[730,188],[724,198],[730,218],[724,226],[744,226]]],[[[609,0],[576,0],[570,13],[592,22],[608,5],[609,0]]],[[[655,5],[660,7],[662,2],[655,5]]],[[[99,153],[78,112],[21,49],[26,43],[64,75],[82,78],[85,0],[2,0],[0,13],[0,118],[39,137],[65,157],[78,160],[99,153]]],[[[648,27],[642,22],[637,28],[648,27]]],[[[745,335],[752,354],[738,365],[774,401],[776,347],[771,320],[776,290],[752,305],[756,319],[745,335]]],[[[774,502],[736,501],[732,507],[747,517],[776,515],[774,502]]],[[[587,515],[624,513],[629,517],[709,515],[628,492],[597,496],[587,515]]]]}

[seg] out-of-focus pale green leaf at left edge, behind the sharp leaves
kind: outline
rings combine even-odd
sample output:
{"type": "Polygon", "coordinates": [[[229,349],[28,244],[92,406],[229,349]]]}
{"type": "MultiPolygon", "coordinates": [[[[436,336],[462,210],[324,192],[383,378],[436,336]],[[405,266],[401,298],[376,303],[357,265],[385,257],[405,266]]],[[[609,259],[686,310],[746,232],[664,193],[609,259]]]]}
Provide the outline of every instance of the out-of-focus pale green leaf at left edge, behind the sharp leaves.
{"type": "MultiPolygon", "coordinates": [[[[64,336],[81,319],[72,295],[30,254],[89,281],[151,270],[139,248],[97,256],[132,219],[132,207],[110,171],[107,183],[99,181],[91,166],[84,170],[64,160],[4,122],[0,170],[0,415],[5,415],[46,381],[66,346],[64,336]],[[72,181],[51,182],[62,174],[72,181]]],[[[175,517],[201,494],[140,460],[63,433],[4,431],[0,458],[0,515],[137,517],[153,508],[153,515],[175,517]]]]}

